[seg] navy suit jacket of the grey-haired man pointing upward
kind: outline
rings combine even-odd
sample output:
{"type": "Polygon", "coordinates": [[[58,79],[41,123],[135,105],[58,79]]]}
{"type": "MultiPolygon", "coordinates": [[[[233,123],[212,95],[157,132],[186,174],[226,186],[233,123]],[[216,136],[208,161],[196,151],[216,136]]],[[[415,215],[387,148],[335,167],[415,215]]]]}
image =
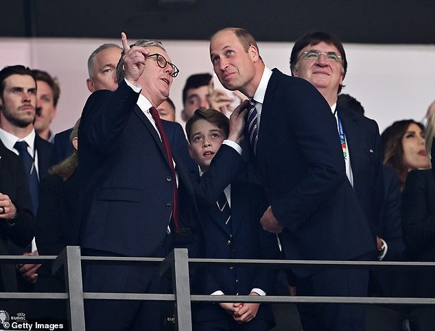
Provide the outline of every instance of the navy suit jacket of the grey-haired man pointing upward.
{"type": "MultiPolygon", "coordinates": [[[[79,243],[126,256],[158,256],[172,212],[174,178],[156,130],[136,105],[138,97],[123,81],[115,92],[96,91],[86,101],[79,127],[79,243]]],[[[196,197],[207,200],[209,188],[223,190],[244,166],[231,147],[219,154],[213,160],[217,171],[198,178],[173,151],[183,226],[196,228],[196,197]],[[231,171],[219,171],[231,162],[231,171]]]]}

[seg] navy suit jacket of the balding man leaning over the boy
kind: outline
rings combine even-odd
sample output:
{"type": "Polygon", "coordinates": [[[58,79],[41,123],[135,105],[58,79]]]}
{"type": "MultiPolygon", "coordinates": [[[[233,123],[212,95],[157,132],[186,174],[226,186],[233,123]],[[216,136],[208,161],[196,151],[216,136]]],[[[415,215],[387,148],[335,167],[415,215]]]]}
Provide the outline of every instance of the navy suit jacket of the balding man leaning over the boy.
{"type": "MultiPolygon", "coordinates": [[[[246,140],[246,139],[245,139],[246,140]]],[[[351,260],[375,249],[347,180],[336,119],[309,82],[273,70],[261,110],[257,160],[285,257],[351,260]]],[[[298,276],[314,269],[294,269],[298,276]]]]}

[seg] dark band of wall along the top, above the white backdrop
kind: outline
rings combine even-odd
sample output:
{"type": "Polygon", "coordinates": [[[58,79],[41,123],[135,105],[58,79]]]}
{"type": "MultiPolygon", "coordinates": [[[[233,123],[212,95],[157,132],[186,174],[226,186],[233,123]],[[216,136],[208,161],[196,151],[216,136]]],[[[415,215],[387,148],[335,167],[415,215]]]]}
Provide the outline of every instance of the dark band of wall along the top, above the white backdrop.
{"type": "Polygon", "coordinates": [[[434,44],[435,0],[0,0],[0,36],[204,40],[222,27],[257,40],[323,30],[343,42],[434,44]]]}

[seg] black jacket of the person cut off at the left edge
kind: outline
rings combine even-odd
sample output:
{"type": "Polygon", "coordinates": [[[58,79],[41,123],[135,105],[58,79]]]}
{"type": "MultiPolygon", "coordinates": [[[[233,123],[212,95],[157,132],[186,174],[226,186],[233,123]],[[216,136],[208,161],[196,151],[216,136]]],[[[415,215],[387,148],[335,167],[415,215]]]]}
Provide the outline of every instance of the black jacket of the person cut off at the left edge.
{"type": "MultiPolygon", "coordinates": [[[[0,141],[0,193],[8,195],[16,207],[14,225],[5,221],[0,224],[0,254],[12,254],[8,240],[19,247],[32,242],[34,217],[27,175],[19,156],[8,150],[0,141]]],[[[15,265],[0,265],[1,282],[4,291],[17,291],[15,265]]]]}

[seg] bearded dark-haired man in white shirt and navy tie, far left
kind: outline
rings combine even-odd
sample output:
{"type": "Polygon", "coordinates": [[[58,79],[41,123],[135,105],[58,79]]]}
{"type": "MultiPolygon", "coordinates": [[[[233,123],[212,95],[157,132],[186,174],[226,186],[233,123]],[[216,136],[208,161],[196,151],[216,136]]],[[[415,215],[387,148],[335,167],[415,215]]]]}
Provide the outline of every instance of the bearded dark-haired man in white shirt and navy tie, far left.
{"type": "MultiPolygon", "coordinates": [[[[0,71],[0,140],[7,149],[20,154],[16,144],[24,144],[27,160],[31,160],[26,168],[34,214],[38,209],[39,180],[47,175],[51,143],[40,138],[34,130],[36,116],[36,79],[32,71],[21,65],[5,66],[0,71]],[[33,177],[32,177],[33,176],[33,177]]],[[[23,156],[21,156],[23,158],[23,156]]],[[[26,162],[24,162],[26,164],[26,162]]],[[[36,247],[23,250],[10,243],[14,254],[38,254],[36,247]],[[28,252],[25,252],[28,251],[28,252]],[[32,251],[32,252],[30,252],[32,251]]],[[[19,286],[23,291],[31,291],[29,283],[36,282],[35,273],[39,265],[22,265],[19,272],[25,282],[19,278],[19,286]]]]}

